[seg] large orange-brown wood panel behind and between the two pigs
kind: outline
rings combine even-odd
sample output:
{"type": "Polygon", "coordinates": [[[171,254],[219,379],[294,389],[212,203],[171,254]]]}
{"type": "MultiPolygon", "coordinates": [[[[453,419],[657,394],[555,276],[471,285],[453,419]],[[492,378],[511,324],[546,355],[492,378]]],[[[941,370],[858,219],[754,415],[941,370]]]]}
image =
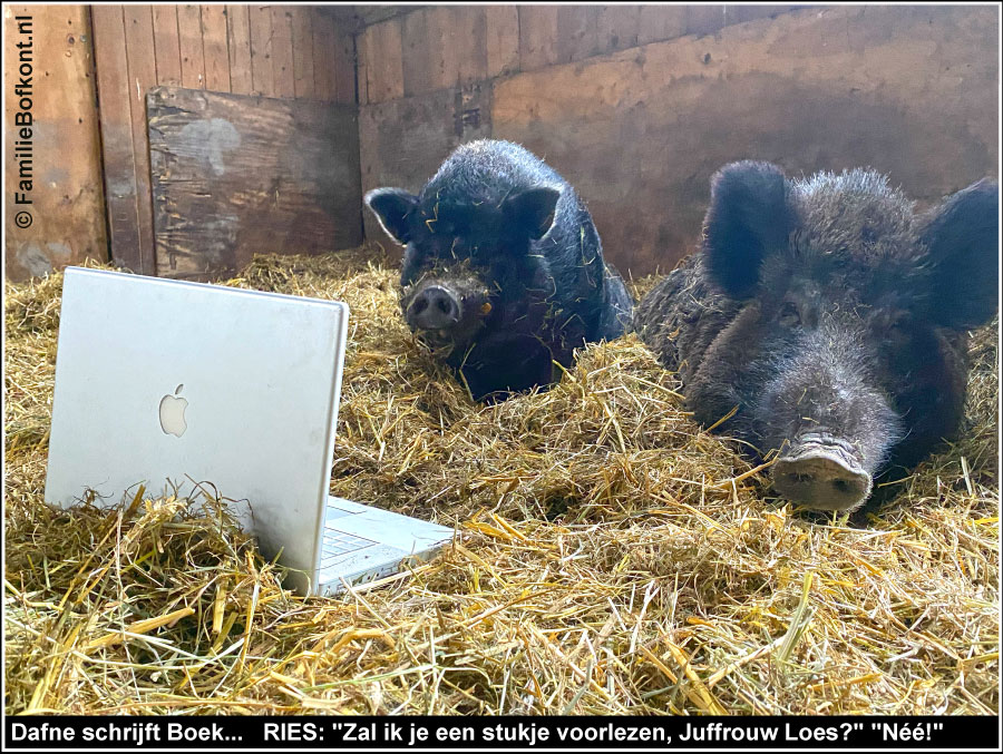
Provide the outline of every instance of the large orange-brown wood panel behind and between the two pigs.
{"type": "Polygon", "coordinates": [[[499,79],[493,136],[581,192],[622,271],[664,271],[731,160],[869,165],[923,200],[995,175],[997,22],[989,7],[846,6],[730,25],[499,79]]]}

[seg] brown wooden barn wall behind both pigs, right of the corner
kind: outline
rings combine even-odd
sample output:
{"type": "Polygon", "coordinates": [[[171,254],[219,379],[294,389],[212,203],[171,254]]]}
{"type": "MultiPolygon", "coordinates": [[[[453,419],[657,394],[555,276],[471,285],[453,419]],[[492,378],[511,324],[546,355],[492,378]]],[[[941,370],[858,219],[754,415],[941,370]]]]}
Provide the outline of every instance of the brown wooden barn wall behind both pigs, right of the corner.
{"type": "Polygon", "coordinates": [[[413,11],[358,37],[362,187],[417,189],[456,145],[510,139],[576,186],[611,261],[665,270],[733,159],[869,165],[927,202],[995,175],[997,32],[992,7],[413,11]]]}

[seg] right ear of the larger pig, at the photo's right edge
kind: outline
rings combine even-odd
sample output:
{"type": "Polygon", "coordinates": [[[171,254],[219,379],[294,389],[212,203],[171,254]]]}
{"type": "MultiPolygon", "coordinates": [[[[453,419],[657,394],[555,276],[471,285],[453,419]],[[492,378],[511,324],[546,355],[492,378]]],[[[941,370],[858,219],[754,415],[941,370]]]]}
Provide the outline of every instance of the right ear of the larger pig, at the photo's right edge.
{"type": "Polygon", "coordinates": [[[984,178],[947,197],[928,214],[921,238],[931,319],[957,330],[987,322],[999,305],[1000,186],[984,178]]]}

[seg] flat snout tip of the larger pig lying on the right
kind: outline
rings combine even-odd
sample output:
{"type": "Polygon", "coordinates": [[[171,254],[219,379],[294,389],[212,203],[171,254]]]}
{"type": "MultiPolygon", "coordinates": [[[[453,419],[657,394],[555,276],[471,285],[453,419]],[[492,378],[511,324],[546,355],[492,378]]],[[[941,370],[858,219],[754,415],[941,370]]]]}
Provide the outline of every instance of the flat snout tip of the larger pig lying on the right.
{"type": "Polygon", "coordinates": [[[773,489],[818,510],[849,510],[867,500],[874,484],[846,443],[805,435],[773,464],[773,489]]]}

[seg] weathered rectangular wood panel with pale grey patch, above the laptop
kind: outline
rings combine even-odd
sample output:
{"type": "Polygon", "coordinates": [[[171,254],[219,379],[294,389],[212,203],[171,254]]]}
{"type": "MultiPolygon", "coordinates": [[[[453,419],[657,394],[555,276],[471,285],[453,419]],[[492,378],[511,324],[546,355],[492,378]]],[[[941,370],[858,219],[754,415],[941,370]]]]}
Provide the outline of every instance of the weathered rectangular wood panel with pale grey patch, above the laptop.
{"type": "Polygon", "coordinates": [[[148,108],[158,275],[361,242],[354,108],[174,87],[148,108]]]}

